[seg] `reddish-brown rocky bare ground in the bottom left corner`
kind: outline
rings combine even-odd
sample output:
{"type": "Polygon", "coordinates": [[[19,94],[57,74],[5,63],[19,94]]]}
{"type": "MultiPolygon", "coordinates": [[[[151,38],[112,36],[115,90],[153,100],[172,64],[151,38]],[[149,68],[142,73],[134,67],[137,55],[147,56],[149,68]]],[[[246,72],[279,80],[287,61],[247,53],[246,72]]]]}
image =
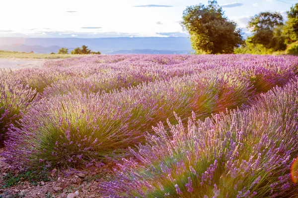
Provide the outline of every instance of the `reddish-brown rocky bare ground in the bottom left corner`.
{"type": "MultiPolygon", "coordinates": [[[[0,153],[3,151],[0,148],[0,153]]],[[[30,182],[12,171],[0,156],[0,198],[100,198],[98,179],[108,173],[112,174],[108,165],[81,171],[53,169],[46,174],[48,181],[30,182]]]]}

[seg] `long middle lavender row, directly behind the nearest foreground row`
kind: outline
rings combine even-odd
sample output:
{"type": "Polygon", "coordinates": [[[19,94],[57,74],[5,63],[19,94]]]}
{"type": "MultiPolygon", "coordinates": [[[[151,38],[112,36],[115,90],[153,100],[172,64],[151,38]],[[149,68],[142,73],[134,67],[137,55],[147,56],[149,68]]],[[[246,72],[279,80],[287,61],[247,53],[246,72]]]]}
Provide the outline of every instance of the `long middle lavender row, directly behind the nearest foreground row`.
{"type": "Polygon", "coordinates": [[[260,66],[220,67],[101,95],[77,91],[44,98],[22,115],[21,127],[9,129],[3,155],[21,168],[89,166],[119,158],[144,142],[157,122],[175,123],[173,111],[181,117],[194,111],[203,119],[285,84],[296,74],[291,61],[270,68],[268,60],[260,66]]]}

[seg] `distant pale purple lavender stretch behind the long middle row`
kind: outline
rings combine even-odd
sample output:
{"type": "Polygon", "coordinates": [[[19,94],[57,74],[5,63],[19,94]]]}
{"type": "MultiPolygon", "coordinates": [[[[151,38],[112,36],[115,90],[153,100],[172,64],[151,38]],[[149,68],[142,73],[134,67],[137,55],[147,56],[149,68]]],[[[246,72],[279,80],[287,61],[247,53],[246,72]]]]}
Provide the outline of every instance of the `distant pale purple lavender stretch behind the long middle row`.
{"type": "Polygon", "coordinates": [[[12,77],[38,93],[46,89],[47,97],[49,94],[67,93],[72,84],[76,85],[75,89],[83,87],[82,92],[88,90],[90,84],[93,87],[88,92],[111,91],[142,82],[201,73],[207,69],[250,65],[282,71],[293,64],[297,65],[295,58],[287,56],[99,55],[49,61],[43,68],[17,70],[12,77]],[[106,87],[101,81],[108,81],[110,86],[106,87]]]}

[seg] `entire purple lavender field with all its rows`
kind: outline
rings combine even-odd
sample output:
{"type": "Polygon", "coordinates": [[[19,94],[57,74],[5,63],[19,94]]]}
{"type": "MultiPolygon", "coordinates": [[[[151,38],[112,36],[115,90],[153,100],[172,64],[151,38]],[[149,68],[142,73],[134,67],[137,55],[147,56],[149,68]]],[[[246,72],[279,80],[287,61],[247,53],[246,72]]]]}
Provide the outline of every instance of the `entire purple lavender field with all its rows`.
{"type": "Polygon", "coordinates": [[[247,54],[2,70],[1,157],[18,172],[110,164],[98,197],[295,197],[297,74],[297,56],[247,54]]]}

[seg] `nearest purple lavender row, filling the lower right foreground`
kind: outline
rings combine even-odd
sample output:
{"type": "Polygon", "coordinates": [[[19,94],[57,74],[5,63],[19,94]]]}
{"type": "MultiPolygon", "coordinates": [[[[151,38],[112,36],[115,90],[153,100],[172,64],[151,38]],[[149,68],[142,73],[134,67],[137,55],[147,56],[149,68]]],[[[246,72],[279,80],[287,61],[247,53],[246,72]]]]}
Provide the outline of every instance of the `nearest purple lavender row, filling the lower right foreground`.
{"type": "Polygon", "coordinates": [[[103,182],[112,197],[293,197],[298,155],[298,79],[261,95],[251,108],[160,123],[103,182]],[[167,129],[170,130],[167,130],[167,129]]]}

